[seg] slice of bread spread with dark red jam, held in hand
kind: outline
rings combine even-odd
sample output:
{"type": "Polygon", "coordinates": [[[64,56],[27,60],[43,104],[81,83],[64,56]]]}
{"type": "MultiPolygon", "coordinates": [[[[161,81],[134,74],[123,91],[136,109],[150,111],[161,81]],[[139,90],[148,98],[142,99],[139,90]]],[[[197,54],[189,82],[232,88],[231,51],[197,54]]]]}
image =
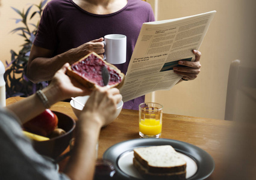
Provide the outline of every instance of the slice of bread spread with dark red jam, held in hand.
{"type": "Polygon", "coordinates": [[[104,61],[101,56],[95,52],[81,58],[67,68],[67,75],[78,80],[88,89],[94,89],[96,86],[104,86],[101,69],[102,66],[107,67],[110,73],[108,85],[110,88],[121,88],[123,85],[125,74],[123,74],[113,64],[104,61]]]}

